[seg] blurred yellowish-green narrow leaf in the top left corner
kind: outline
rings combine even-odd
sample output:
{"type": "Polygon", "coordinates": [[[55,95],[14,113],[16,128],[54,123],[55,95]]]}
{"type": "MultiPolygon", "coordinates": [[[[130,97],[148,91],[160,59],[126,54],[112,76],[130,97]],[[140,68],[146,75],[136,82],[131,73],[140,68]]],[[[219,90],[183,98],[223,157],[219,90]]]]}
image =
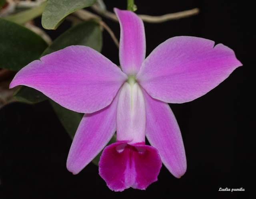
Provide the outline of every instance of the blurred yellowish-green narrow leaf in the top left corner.
{"type": "Polygon", "coordinates": [[[26,22],[40,16],[44,11],[45,6],[46,1],[42,2],[42,4],[40,4],[36,8],[31,8],[29,10],[25,10],[17,14],[7,16],[5,19],[11,22],[15,22],[16,24],[25,24],[26,22]]]}

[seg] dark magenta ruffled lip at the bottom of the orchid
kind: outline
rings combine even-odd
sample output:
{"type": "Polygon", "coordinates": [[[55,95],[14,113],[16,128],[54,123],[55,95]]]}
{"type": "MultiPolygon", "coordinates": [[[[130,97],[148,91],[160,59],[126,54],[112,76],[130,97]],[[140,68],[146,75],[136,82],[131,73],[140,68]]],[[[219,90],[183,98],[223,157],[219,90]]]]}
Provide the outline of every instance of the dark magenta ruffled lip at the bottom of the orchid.
{"type": "Polygon", "coordinates": [[[161,167],[158,151],[152,146],[116,142],[103,150],[99,174],[112,191],[124,191],[129,187],[145,190],[157,181],[161,167]]]}

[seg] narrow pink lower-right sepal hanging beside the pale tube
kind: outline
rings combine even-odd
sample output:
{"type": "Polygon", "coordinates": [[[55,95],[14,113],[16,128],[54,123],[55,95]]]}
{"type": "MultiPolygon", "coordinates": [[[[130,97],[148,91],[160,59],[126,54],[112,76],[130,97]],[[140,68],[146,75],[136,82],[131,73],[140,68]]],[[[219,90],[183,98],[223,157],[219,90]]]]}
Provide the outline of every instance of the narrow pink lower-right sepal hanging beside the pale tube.
{"type": "Polygon", "coordinates": [[[155,147],[163,164],[175,177],[186,172],[186,154],[180,128],[170,106],[143,91],[146,105],[146,137],[155,147]]]}

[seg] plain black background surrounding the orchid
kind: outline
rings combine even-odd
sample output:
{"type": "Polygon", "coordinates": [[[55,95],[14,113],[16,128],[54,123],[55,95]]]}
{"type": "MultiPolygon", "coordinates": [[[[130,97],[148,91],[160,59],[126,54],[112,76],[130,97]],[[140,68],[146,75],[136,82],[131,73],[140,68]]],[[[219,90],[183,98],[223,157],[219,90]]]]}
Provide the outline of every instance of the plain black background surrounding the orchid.
{"type": "MultiPolygon", "coordinates": [[[[126,9],[125,0],[105,0],[108,10],[126,9]]],[[[254,198],[255,109],[253,94],[255,21],[246,1],[142,1],[137,14],[162,15],[195,7],[200,14],[162,24],[144,23],[146,55],[166,39],[191,35],[223,43],[243,66],[218,87],[192,102],[170,104],[182,132],[188,169],[176,179],[163,166],[146,191],[115,193],[90,163],[78,175],[66,169],[72,140],[49,102],[14,102],[0,110],[0,198],[254,198]],[[219,188],[245,191],[218,191],[219,188]]],[[[40,19],[37,19],[40,24],[40,19]]],[[[104,19],[119,37],[119,24],[104,19]]],[[[64,22],[55,38],[68,27],[64,22]]],[[[116,64],[118,49],[106,31],[102,54],[116,64]]]]}

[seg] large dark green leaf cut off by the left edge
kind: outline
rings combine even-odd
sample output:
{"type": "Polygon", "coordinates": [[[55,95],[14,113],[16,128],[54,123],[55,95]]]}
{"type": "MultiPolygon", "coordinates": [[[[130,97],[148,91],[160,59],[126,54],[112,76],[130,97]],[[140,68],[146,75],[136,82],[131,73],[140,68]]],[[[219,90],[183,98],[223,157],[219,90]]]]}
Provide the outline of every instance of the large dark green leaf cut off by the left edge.
{"type": "Polygon", "coordinates": [[[31,30],[0,18],[0,67],[19,71],[38,59],[47,43],[31,30]]]}

